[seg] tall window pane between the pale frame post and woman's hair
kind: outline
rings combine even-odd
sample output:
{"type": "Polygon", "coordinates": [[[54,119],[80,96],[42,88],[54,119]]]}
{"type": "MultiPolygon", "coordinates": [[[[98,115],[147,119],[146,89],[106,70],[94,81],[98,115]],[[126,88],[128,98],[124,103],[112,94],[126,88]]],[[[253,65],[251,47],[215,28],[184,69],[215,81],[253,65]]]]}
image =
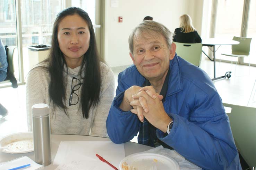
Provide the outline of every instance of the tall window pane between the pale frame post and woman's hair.
{"type": "Polygon", "coordinates": [[[53,23],[62,5],[62,0],[20,1],[24,77],[37,61],[42,60],[35,59],[37,56],[27,46],[51,44],[53,23]]]}

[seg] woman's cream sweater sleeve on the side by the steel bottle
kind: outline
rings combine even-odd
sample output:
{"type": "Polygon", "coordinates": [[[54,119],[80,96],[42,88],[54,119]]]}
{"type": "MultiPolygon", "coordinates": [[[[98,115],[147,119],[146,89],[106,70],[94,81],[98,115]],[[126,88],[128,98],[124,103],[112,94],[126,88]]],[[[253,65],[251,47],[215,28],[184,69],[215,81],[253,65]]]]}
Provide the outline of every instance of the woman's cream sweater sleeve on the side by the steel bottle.
{"type": "MultiPolygon", "coordinates": [[[[42,68],[32,69],[27,76],[26,82],[26,105],[27,105],[27,126],[32,131],[32,106],[37,103],[46,103],[47,81],[42,68]]],[[[47,103],[46,103],[47,104],[47,103]]]]}

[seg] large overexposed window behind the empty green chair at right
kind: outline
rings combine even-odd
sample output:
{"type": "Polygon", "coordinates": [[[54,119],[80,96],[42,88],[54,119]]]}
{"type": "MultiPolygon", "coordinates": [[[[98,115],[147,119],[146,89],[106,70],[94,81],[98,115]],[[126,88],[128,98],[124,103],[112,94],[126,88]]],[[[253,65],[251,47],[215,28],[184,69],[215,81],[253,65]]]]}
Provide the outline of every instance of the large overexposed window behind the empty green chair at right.
{"type": "Polygon", "coordinates": [[[253,48],[256,46],[256,0],[213,0],[212,2],[217,6],[215,8],[213,5],[211,22],[215,24],[212,24],[210,35],[215,38],[227,39],[232,39],[233,36],[252,38],[250,57],[223,56],[221,53],[231,52],[231,46],[220,46],[216,51],[216,58],[221,58],[222,61],[225,60],[226,62],[237,61],[239,64],[246,65],[250,62],[251,65],[256,66],[256,58],[254,57],[256,51],[253,48]]]}

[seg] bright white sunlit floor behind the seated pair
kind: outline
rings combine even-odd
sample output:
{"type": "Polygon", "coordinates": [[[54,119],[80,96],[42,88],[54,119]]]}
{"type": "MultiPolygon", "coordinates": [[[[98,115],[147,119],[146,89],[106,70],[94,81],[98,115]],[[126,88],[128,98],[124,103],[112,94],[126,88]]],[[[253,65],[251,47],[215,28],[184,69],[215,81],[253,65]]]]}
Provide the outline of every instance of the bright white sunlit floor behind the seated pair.
{"type": "MultiPolygon", "coordinates": [[[[213,77],[212,62],[203,59],[200,67],[211,78],[213,77]]],[[[236,73],[234,72],[235,64],[232,67],[229,63],[216,62],[216,76],[224,75],[227,71],[233,69],[230,79],[220,79],[214,82],[222,101],[224,103],[244,106],[248,104],[248,106],[256,107],[256,94],[254,98],[253,96],[250,98],[252,90],[253,92],[256,90],[256,67],[250,67],[250,74],[248,66],[237,65],[236,73]]],[[[116,85],[118,73],[123,68],[125,67],[121,69],[113,68],[116,85]]],[[[0,88],[0,96],[0,103],[9,111],[9,115],[0,120],[0,137],[10,133],[27,131],[25,85],[20,85],[17,89],[11,87],[0,88]]]]}

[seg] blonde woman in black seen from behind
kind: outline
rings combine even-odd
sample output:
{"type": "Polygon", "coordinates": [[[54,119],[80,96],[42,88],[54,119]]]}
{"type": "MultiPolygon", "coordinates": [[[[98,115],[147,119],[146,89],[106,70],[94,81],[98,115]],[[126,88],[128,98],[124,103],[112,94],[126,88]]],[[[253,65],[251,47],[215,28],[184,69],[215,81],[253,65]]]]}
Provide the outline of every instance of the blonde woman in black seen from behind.
{"type": "Polygon", "coordinates": [[[194,28],[189,15],[180,16],[180,28],[175,29],[173,41],[178,43],[202,43],[202,39],[194,28]]]}

